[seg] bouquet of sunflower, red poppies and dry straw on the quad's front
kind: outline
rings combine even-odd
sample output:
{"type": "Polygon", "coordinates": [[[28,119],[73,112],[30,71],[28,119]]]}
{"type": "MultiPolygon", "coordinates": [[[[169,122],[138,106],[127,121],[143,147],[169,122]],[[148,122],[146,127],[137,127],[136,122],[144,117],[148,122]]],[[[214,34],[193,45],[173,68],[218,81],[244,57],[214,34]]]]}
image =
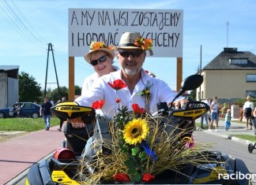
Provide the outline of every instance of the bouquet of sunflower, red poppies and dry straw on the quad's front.
{"type": "MultiPolygon", "coordinates": [[[[121,81],[109,85],[115,91],[126,87],[121,81]]],[[[114,100],[117,104],[122,102],[116,99],[119,98],[114,100]]],[[[100,109],[103,105],[104,101],[97,101],[92,108],[100,109]]],[[[119,112],[108,122],[108,128],[111,139],[100,141],[101,150],[81,161],[93,168],[85,179],[89,184],[150,182],[166,170],[182,173],[186,164],[205,162],[201,151],[208,146],[194,145],[194,139],[187,136],[190,129],[180,129],[173,117],[152,117],[137,104],[132,105],[132,111],[127,106],[119,106],[119,112]],[[105,154],[104,149],[109,152],[105,154]]],[[[85,172],[81,170],[80,173],[85,172]]]]}

